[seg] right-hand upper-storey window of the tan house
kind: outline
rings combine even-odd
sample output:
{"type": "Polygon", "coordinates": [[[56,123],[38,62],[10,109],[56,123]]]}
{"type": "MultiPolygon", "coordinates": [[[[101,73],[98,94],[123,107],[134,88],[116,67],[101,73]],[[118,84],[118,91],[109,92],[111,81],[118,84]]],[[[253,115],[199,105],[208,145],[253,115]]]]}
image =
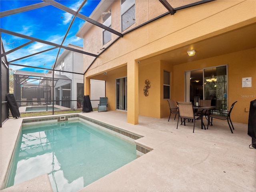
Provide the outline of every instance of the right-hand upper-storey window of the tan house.
{"type": "Polygon", "coordinates": [[[135,0],[121,0],[122,31],[135,23],[135,0]]]}

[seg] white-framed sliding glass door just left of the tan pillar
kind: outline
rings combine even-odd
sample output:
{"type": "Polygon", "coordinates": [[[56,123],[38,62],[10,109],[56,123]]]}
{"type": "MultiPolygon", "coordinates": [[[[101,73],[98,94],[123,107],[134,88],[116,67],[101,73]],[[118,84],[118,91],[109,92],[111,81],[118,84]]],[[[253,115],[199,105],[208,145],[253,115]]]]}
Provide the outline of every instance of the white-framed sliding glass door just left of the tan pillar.
{"type": "Polygon", "coordinates": [[[116,79],[116,110],[127,111],[127,77],[116,79]]]}

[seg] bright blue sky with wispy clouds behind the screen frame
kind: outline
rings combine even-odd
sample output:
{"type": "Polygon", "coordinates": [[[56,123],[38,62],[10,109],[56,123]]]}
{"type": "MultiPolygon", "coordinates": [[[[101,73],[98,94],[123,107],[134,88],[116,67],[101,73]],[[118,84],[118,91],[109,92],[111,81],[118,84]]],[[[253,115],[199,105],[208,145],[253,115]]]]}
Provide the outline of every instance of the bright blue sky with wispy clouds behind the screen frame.
{"type": "MultiPolygon", "coordinates": [[[[28,6],[42,2],[41,0],[0,0],[0,11],[12,10],[23,6],[28,6]]],[[[56,2],[63,4],[73,10],[77,10],[82,3],[82,0],[56,0],[56,2]]],[[[100,0],[88,0],[80,13],[85,16],[90,16],[94,8],[98,5],[100,0]]],[[[39,38],[56,44],[61,44],[66,30],[70,25],[73,18],[72,14],[66,13],[54,6],[45,6],[34,10],[14,14],[11,16],[5,16],[0,18],[0,26],[5,30],[18,32],[34,38],[39,38]]],[[[83,46],[83,40],[76,37],[76,33],[80,27],[84,24],[84,20],[76,18],[69,33],[64,41],[64,46],[68,44],[74,44],[83,46]]],[[[9,34],[1,33],[2,40],[4,42],[5,51],[11,50],[20,46],[30,40],[12,36],[9,34]]],[[[17,50],[7,55],[8,61],[24,57],[36,52],[40,52],[46,49],[52,48],[52,46],[34,42],[24,48],[17,50]]],[[[61,50],[61,52],[63,49],[61,50]]],[[[87,51],[87,50],[86,50],[87,51]]],[[[12,62],[14,64],[22,64],[25,66],[37,66],[43,68],[51,68],[54,64],[58,48],[37,54],[35,56],[25,58],[12,62]]],[[[90,52],[90,51],[87,51],[90,52]]],[[[16,70],[29,70],[36,72],[47,72],[45,70],[39,70],[34,68],[24,68],[20,66],[10,66],[10,68],[16,70]]]]}

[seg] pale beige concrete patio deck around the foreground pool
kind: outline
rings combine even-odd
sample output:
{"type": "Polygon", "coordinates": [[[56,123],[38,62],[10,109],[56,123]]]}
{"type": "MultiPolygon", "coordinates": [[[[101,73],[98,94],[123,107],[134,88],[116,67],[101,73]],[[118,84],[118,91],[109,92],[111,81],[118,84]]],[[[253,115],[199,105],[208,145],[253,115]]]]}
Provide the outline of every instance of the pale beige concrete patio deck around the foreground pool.
{"type": "MultiPolygon", "coordinates": [[[[179,125],[176,129],[177,119],[174,120],[174,116],[170,122],[168,118],[140,116],[139,124],[132,125],[126,123],[126,113],[122,112],[81,114],[142,135],[144,137],[136,142],[153,149],[86,186],[81,192],[256,191],[256,150],[249,148],[251,137],[247,135],[247,124],[234,122],[232,134],[226,121],[214,120],[208,130],[202,130],[200,121],[196,121],[193,133],[192,123],[179,125]]],[[[6,168],[2,163],[6,164],[6,158],[12,153],[4,146],[14,137],[12,127],[19,126],[21,122],[22,119],[10,119],[0,128],[1,183],[2,170],[6,168]]],[[[206,120],[204,122],[206,124],[206,120]]],[[[49,183],[45,183],[47,185],[49,183]]],[[[36,178],[2,191],[49,191],[49,188],[40,186],[36,178]]]]}

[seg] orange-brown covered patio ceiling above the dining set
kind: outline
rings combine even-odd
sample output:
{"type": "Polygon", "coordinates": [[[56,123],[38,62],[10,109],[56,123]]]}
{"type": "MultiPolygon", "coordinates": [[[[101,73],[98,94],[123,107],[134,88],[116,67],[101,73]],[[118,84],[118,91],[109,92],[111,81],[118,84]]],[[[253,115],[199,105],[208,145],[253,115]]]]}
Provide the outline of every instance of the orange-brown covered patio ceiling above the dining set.
{"type": "Polygon", "coordinates": [[[166,62],[170,62],[172,65],[178,65],[255,47],[256,24],[252,24],[213,38],[188,44],[187,46],[147,58],[143,60],[143,63],[164,60],[166,62]],[[189,50],[196,50],[196,54],[192,57],[188,56],[187,51],[189,50]]]}

